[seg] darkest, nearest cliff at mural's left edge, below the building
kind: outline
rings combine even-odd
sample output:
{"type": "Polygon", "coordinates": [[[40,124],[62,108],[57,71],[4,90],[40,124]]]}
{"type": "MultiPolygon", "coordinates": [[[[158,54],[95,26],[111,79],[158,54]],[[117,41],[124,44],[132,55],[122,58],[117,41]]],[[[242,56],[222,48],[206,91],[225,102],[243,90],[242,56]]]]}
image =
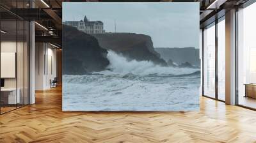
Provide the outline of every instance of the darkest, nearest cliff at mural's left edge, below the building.
{"type": "Polygon", "coordinates": [[[82,75],[104,70],[108,51],[93,36],[63,25],[63,74],[82,75]]]}

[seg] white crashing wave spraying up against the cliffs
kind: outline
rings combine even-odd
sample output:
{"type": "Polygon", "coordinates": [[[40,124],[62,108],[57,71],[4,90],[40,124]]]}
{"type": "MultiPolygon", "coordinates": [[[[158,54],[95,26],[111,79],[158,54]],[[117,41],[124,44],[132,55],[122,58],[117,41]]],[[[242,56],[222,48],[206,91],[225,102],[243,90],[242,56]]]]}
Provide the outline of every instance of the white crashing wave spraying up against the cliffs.
{"type": "Polygon", "coordinates": [[[121,54],[116,54],[111,50],[108,51],[109,65],[108,70],[99,72],[104,75],[132,73],[134,75],[190,75],[200,72],[198,68],[177,68],[171,66],[160,66],[152,61],[128,61],[121,54]]]}

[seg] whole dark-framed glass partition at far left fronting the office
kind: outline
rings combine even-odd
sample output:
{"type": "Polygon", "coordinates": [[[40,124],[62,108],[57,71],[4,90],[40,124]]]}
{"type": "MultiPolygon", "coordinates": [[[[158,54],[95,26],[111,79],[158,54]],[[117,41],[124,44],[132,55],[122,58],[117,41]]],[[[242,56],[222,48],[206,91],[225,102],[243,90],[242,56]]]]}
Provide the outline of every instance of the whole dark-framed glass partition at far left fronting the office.
{"type": "MultiPolygon", "coordinates": [[[[28,1],[0,4],[28,8],[28,1]]],[[[0,30],[0,114],[3,114],[29,103],[29,22],[0,8],[0,30]]]]}

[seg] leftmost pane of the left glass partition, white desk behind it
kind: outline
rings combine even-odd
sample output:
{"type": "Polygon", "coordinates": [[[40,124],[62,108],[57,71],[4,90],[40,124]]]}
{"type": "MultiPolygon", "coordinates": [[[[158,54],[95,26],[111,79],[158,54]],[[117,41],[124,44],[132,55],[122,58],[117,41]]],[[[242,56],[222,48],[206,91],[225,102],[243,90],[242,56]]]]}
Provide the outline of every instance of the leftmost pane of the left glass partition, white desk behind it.
{"type": "Polygon", "coordinates": [[[17,21],[1,21],[1,113],[16,109],[20,103],[16,63],[17,21]]]}

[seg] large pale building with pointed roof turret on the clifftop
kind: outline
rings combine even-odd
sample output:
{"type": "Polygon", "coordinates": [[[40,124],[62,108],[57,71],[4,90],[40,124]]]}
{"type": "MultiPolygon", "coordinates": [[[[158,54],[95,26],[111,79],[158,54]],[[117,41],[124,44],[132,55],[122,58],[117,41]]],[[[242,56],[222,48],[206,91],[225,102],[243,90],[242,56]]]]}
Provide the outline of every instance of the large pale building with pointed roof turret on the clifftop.
{"type": "Polygon", "coordinates": [[[79,31],[83,31],[88,34],[100,34],[105,33],[103,29],[103,22],[90,21],[84,16],[84,20],[80,21],[65,21],[65,25],[76,27],[79,31]]]}

